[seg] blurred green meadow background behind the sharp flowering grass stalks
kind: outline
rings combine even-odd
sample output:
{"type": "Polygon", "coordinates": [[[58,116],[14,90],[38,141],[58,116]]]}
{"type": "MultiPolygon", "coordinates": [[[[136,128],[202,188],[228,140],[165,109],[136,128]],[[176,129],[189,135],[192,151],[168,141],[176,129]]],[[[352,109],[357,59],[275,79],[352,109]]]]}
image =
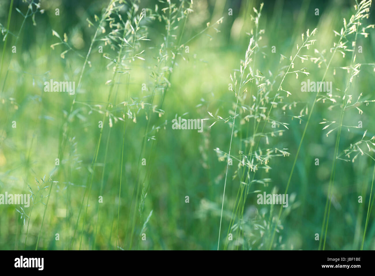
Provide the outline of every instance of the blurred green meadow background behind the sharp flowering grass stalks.
{"type": "MultiPolygon", "coordinates": [[[[0,0],[1,39],[7,34],[6,44],[4,40],[0,43],[0,53],[4,52],[0,193],[30,193],[30,187],[36,200],[24,208],[24,214],[18,205],[0,205],[0,249],[216,250],[227,166],[214,149],[228,153],[231,143],[231,155],[239,156],[240,150],[249,149],[246,130],[252,130],[256,122],[244,119],[251,114],[249,109],[238,108],[231,142],[232,119],[229,123],[219,120],[211,128],[208,126],[214,120],[205,120],[202,133],[174,130],[171,121],[179,116],[211,118],[207,111],[224,119],[233,116],[236,96],[228,91],[229,76],[239,70],[253,35],[259,46],[250,66],[255,75],[275,81],[270,99],[263,104],[268,113],[269,102],[282,93],[271,120],[289,124],[288,129],[277,126],[277,130],[285,130],[282,136],[269,136],[268,143],[260,139],[259,148],[285,148],[290,155],[275,156],[268,163],[272,169],[256,172],[255,179],[270,181],[249,186],[240,204],[243,213],[234,216],[234,225],[230,220],[243,185],[240,175],[248,170],[233,160],[226,180],[220,249],[268,249],[271,243],[272,249],[278,250],[318,249],[315,233],[321,234],[337,135],[335,130],[327,137],[328,129],[322,130],[324,125],[319,123],[323,119],[339,121],[339,104],[318,101],[315,105],[288,189],[289,207],[282,210],[281,225],[272,242],[279,206],[258,205],[256,195],[284,192],[307,120],[303,109],[310,111],[315,99],[314,92],[300,91],[300,83],[308,78],[321,80],[330,48],[339,38],[333,30],[340,33],[343,18],[349,21],[355,13],[355,1],[264,1],[258,27],[252,20],[256,17],[253,7],[259,11],[261,1],[120,2],[115,2],[108,15],[114,21],[105,18],[98,28],[110,1],[15,0],[8,32],[11,1],[0,0]],[[139,21],[142,9],[146,9],[146,17],[141,19],[136,37],[149,40],[134,43],[130,24],[121,23],[129,19],[135,28],[134,18],[139,21]],[[228,15],[228,9],[233,15],[228,15]],[[220,18],[222,22],[215,24],[220,18]],[[116,37],[122,37],[124,26],[127,42],[116,37]],[[120,31],[114,32],[116,28],[120,31]],[[306,31],[314,28],[317,41],[302,54],[319,58],[323,53],[326,61],[318,66],[320,62],[310,58],[304,63],[297,58],[295,69],[306,68],[310,75],[299,74],[296,79],[295,74],[288,74],[282,89],[292,95],[286,97],[285,92],[277,91],[282,71],[288,69],[283,66],[289,65],[281,54],[294,56],[296,45],[302,45],[301,34],[306,37],[306,31]],[[62,43],[52,48],[64,40],[64,33],[69,46],[62,43]],[[15,53],[12,46],[17,47],[15,53]],[[189,46],[188,52],[185,46],[189,46]],[[62,58],[60,54],[67,49],[71,50],[62,58]],[[142,59],[134,58],[135,53],[141,53],[142,59]],[[75,81],[76,94],[44,92],[44,82],[50,79],[75,81]],[[282,102],[287,105],[285,110],[282,102]],[[103,118],[103,128],[99,128],[103,118]],[[319,158],[319,166],[315,158],[319,158]],[[254,193],[257,190],[261,192],[254,193]],[[228,233],[233,233],[233,240],[228,240],[228,233]],[[145,240],[142,234],[146,234],[145,240]]],[[[361,28],[374,23],[373,8],[361,28]]],[[[366,32],[368,37],[357,38],[363,52],[356,49],[356,63],[370,65],[361,66],[348,94],[356,100],[362,93],[361,99],[370,101],[375,98],[374,29],[366,32]]],[[[353,34],[347,39],[346,45],[352,48],[353,34]]],[[[327,71],[325,80],[333,82],[338,103],[350,77],[341,68],[350,63],[351,52],[345,57],[338,52],[327,71]]],[[[253,104],[251,95],[257,93],[257,86],[255,80],[246,84],[248,92],[241,105],[253,104]]],[[[355,108],[345,112],[343,125],[356,126],[361,120],[363,127],[342,128],[339,153],[359,141],[366,129],[368,139],[375,135],[373,107],[370,102],[360,107],[362,114],[355,108]]],[[[264,132],[270,131],[271,124],[266,124],[264,132]]],[[[326,250],[361,247],[375,165],[373,153],[360,154],[355,162],[351,159],[356,153],[348,158],[350,162],[337,160],[326,250]]],[[[375,249],[374,217],[371,212],[363,249],[375,249]]]]}

